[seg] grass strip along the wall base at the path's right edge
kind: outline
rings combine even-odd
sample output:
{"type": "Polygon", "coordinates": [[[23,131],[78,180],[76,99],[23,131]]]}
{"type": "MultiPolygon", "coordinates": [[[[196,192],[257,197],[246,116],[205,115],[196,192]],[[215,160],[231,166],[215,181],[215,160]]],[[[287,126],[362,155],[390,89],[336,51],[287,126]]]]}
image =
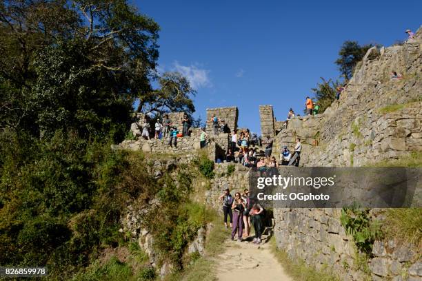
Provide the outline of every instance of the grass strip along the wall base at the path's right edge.
{"type": "Polygon", "coordinates": [[[285,251],[277,249],[275,239],[270,240],[271,251],[274,257],[283,264],[286,273],[296,281],[339,281],[339,277],[329,269],[317,270],[309,267],[303,260],[292,261],[285,251]]]}

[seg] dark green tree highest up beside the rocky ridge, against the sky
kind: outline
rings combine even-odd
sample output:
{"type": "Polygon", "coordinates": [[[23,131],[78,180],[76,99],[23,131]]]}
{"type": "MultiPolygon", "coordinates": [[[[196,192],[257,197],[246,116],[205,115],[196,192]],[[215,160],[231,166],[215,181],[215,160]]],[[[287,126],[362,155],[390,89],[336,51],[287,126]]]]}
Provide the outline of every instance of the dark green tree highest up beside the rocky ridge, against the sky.
{"type": "Polygon", "coordinates": [[[352,78],[356,63],[363,59],[366,52],[372,48],[372,44],[359,45],[357,41],[345,41],[339,51],[339,59],[335,63],[346,81],[352,78]]]}

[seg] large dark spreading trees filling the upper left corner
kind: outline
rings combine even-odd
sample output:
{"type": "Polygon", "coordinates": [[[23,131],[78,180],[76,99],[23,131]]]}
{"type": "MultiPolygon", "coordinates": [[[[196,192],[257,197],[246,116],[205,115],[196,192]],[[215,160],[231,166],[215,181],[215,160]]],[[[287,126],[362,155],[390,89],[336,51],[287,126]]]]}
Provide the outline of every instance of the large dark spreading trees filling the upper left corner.
{"type": "Polygon", "coordinates": [[[129,123],[120,110],[130,107],[98,105],[151,91],[158,32],[125,0],[0,1],[0,126],[34,135],[69,126],[88,136],[105,132],[99,123],[129,123]]]}

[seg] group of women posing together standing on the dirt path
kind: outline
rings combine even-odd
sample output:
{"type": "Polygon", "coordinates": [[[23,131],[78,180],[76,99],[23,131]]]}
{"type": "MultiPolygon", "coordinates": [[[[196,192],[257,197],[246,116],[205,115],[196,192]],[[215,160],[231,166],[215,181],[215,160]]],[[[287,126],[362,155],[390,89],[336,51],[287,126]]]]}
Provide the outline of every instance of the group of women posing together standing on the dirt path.
{"type": "Polygon", "coordinates": [[[232,240],[242,242],[249,238],[251,226],[253,226],[255,235],[252,242],[254,244],[261,244],[264,209],[258,202],[252,204],[249,197],[249,190],[245,189],[243,194],[236,192],[233,198],[230,194],[230,189],[225,189],[219,199],[223,201],[225,228],[228,228],[228,218],[230,218],[229,223],[232,229],[232,240]]]}

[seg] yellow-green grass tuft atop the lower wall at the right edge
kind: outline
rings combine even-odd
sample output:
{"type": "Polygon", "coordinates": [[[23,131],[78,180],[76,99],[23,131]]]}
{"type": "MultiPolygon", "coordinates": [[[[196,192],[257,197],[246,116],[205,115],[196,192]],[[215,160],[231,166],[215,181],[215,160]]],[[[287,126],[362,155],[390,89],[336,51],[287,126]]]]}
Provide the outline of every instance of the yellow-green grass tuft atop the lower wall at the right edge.
{"type": "Polygon", "coordinates": [[[422,208],[387,209],[383,222],[386,238],[422,247],[422,208]]]}

